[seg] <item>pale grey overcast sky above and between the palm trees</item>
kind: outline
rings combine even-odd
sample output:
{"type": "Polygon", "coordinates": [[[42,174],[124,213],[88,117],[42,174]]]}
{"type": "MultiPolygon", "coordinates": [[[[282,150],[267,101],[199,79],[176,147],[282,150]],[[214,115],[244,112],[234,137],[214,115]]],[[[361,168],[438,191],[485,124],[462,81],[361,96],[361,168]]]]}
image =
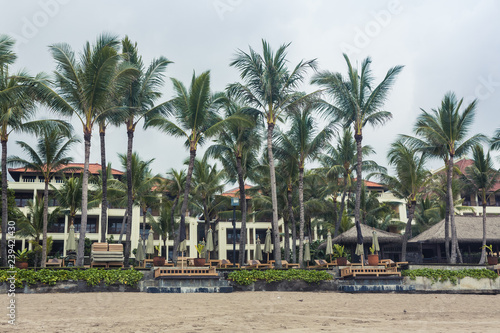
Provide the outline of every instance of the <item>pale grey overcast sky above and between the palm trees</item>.
{"type": "MultiPolygon", "coordinates": [[[[3,1],[0,34],[17,40],[16,68],[51,73],[55,63],[48,46],[65,42],[80,52],[102,32],[128,35],[138,43],[146,64],[163,55],[174,63],[166,75],[188,85],[193,71],[211,70],[213,90],[239,80],[229,67],[238,49],[261,50],[261,39],[274,49],[291,42],[290,65],[317,58],[319,68],[346,72],[342,53],[353,63],[370,56],[376,82],[395,65],[405,68],[385,109],[393,119],[367,129],[364,144],[372,158],[386,165],[386,152],[398,134],[411,134],[420,108],[439,106],[454,91],[466,101],[479,100],[473,133],[491,136],[500,127],[500,3],[490,1],[3,1]]],[[[303,85],[304,91],[315,87],[303,85]]],[[[161,101],[172,98],[166,81],[161,101]]],[[[81,125],[73,121],[81,137],[81,125]]],[[[9,155],[19,154],[12,135],[9,155]]],[[[21,139],[25,139],[24,137],[21,139]]],[[[121,169],[118,153],[126,152],[126,131],[108,130],[108,160],[121,169]]],[[[182,168],[188,157],[182,141],[156,130],[139,129],[134,150],[155,158],[153,171],[164,175],[182,168]]],[[[99,137],[92,140],[91,162],[99,163],[99,137]]],[[[203,149],[202,149],[203,151],[203,149]]],[[[201,155],[201,152],[200,154],[201,155]]],[[[73,152],[83,162],[83,144],[73,152]]],[[[440,166],[434,162],[430,166],[440,166]]]]}

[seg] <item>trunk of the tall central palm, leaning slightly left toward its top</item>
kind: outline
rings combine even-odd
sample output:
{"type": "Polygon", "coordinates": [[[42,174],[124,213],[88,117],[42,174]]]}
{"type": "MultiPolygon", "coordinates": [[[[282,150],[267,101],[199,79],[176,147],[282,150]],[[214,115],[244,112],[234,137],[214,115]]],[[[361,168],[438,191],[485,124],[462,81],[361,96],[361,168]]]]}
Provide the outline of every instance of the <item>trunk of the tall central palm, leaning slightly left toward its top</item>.
{"type": "MultiPolygon", "coordinates": [[[[276,195],[276,172],[274,170],[273,155],[273,129],[274,123],[267,124],[267,154],[269,156],[269,176],[271,180],[271,201],[273,204],[273,244],[276,268],[281,268],[281,247],[278,227],[278,198],[276,195]]],[[[300,258],[300,257],[299,257],[300,258]]]]}

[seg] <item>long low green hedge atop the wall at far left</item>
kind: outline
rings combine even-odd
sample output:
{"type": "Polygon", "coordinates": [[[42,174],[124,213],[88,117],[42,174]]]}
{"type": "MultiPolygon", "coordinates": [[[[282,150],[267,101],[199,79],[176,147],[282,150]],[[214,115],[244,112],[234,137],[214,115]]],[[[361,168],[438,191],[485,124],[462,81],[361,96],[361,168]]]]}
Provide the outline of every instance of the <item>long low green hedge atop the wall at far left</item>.
{"type": "Polygon", "coordinates": [[[6,282],[8,278],[12,277],[14,274],[11,273],[15,271],[16,277],[16,287],[20,288],[23,286],[23,282],[30,285],[36,283],[44,283],[48,285],[55,285],[58,281],[68,281],[68,280],[83,280],[87,282],[89,286],[98,285],[104,282],[107,286],[111,284],[125,284],[135,287],[137,282],[139,282],[144,274],[134,269],[121,270],[112,269],[105,270],[100,268],[90,268],[90,269],[72,269],[72,270],[52,270],[52,269],[13,269],[13,270],[2,270],[0,271],[0,282],[6,282]]]}

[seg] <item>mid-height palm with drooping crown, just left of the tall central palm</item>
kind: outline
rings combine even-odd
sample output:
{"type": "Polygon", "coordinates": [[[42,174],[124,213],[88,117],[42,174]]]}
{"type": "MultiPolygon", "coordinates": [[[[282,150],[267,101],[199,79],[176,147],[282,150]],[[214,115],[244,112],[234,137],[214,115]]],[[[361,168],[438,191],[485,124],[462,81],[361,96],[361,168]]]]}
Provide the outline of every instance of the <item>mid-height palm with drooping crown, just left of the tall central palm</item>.
{"type": "MultiPolygon", "coordinates": [[[[255,117],[252,110],[248,110],[237,101],[227,98],[224,104],[224,116],[246,114],[255,117]]],[[[254,124],[252,124],[254,125],[254,124]]],[[[257,154],[260,149],[260,138],[255,126],[228,123],[224,131],[214,140],[214,144],[205,152],[206,156],[217,158],[226,171],[228,182],[238,182],[241,208],[240,231],[240,266],[244,264],[246,245],[247,201],[245,180],[249,170],[257,164],[257,154]]]]}

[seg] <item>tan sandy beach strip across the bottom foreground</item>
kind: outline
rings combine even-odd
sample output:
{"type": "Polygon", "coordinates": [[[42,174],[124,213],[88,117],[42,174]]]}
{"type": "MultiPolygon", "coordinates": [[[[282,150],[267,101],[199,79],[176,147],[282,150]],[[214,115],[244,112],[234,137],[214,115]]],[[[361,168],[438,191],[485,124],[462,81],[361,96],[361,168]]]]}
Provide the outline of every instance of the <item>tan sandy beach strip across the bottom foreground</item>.
{"type": "Polygon", "coordinates": [[[500,295],[18,294],[0,332],[500,332],[499,308],[500,295]]]}

